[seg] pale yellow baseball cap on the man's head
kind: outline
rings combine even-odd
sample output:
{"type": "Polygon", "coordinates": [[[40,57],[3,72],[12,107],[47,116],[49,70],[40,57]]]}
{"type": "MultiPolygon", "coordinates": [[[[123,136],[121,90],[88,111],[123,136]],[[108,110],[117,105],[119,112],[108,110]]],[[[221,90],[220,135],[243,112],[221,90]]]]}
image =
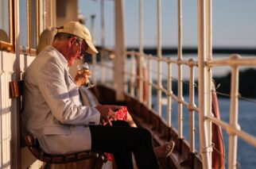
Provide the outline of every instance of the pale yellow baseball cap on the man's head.
{"type": "Polygon", "coordinates": [[[85,40],[88,44],[87,53],[95,54],[98,53],[97,49],[95,48],[94,44],[91,41],[91,33],[87,27],[80,24],[78,21],[68,21],[63,26],[58,28],[58,33],[69,33],[75,36],[80,37],[81,39],[85,40]]]}

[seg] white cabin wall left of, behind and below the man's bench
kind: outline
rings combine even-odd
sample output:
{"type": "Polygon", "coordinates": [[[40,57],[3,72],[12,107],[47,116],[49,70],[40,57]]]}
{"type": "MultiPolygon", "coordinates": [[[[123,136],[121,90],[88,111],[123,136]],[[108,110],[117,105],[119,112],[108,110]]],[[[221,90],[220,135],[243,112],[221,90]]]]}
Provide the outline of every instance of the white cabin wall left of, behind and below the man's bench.
{"type": "MultiPolygon", "coordinates": [[[[23,73],[25,69],[32,63],[34,56],[19,56],[20,71],[23,73]]],[[[10,81],[17,79],[15,67],[17,67],[16,54],[10,52],[0,52],[0,168],[39,168],[42,166],[39,160],[36,160],[28,148],[21,148],[20,164],[13,163],[15,158],[12,153],[15,152],[15,143],[17,142],[16,135],[12,133],[19,133],[17,130],[16,115],[19,112],[17,108],[17,99],[10,98],[10,81]]],[[[16,155],[17,156],[17,155],[16,155]]]]}

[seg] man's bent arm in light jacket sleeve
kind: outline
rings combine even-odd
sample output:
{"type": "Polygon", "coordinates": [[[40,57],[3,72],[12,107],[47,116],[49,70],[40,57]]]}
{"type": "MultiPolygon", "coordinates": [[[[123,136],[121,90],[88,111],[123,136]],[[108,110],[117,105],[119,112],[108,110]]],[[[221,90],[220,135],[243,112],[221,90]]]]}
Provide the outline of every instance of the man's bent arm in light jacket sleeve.
{"type": "Polygon", "coordinates": [[[53,116],[63,124],[99,124],[99,111],[81,105],[78,88],[75,83],[66,82],[65,71],[58,60],[49,60],[38,72],[38,86],[53,116]]]}

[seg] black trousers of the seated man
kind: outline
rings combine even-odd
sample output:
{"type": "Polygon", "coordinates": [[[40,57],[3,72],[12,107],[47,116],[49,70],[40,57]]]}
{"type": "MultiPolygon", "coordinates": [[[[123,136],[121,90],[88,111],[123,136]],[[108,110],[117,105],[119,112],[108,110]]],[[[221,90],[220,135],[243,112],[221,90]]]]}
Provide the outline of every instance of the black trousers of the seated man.
{"type": "Polygon", "coordinates": [[[111,152],[118,168],[133,168],[131,152],[138,168],[159,168],[148,130],[131,128],[126,121],[113,121],[113,126],[91,125],[91,150],[111,152]]]}

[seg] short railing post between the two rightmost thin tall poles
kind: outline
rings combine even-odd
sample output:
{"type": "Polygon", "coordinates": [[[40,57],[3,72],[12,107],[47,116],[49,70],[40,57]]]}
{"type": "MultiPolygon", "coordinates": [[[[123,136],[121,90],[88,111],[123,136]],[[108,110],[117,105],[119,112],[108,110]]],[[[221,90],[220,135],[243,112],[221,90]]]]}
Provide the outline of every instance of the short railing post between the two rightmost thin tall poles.
{"type": "Polygon", "coordinates": [[[173,94],[173,90],[172,90],[172,63],[171,63],[171,58],[169,58],[168,62],[167,62],[167,66],[168,66],[168,75],[167,75],[167,112],[166,112],[166,121],[167,121],[167,125],[169,127],[172,126],[172,94],[173,94]]]}

